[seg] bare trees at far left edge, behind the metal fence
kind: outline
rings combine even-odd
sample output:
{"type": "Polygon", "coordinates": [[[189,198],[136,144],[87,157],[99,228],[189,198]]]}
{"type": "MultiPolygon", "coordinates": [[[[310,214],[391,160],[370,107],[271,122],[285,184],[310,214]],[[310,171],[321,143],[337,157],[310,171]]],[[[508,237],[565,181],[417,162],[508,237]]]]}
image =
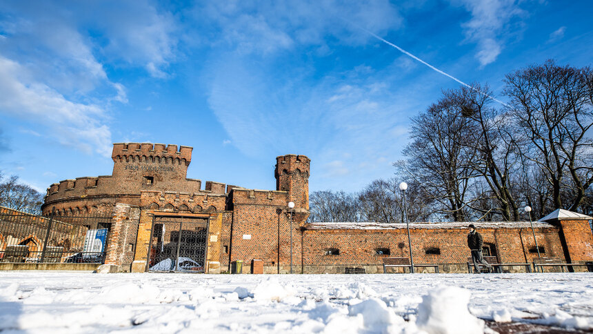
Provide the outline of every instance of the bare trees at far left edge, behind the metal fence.
{"type": "Polygon", "coordinates": [[[0,173],[0,206],[26,213],[41,213],[43,195],[26,184],[19,183],[19,177],[12,175],[5,179],[0,173]]]}

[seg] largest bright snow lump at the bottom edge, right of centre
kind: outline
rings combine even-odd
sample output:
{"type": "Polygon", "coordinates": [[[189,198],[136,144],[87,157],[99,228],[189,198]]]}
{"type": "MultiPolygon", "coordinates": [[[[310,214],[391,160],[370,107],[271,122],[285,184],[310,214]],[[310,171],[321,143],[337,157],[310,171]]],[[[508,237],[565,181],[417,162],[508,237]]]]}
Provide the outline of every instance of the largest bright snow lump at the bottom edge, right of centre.
{"type": "Polygon", "coordinates": [[[484,322],[468,311],[470,291],[456,286],[438,288],[422,297],[416,325],[430,334],[483,333],[484,322]]]}

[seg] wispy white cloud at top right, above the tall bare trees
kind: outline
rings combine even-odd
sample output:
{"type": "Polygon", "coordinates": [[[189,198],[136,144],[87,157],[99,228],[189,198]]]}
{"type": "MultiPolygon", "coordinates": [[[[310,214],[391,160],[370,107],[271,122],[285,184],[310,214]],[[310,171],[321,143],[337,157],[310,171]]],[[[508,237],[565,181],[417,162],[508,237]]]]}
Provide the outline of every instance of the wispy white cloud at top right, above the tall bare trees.
{"type": "Polygon", "coordinates": [[[481,66],[496,61],[503,49],[505,27],[514,17],[521,17],[525,12],[515,0],[452,0],[462,4],[472,14],[470,21],[463,23],[465,37],[478,44],[476,58],[481,66]]]}

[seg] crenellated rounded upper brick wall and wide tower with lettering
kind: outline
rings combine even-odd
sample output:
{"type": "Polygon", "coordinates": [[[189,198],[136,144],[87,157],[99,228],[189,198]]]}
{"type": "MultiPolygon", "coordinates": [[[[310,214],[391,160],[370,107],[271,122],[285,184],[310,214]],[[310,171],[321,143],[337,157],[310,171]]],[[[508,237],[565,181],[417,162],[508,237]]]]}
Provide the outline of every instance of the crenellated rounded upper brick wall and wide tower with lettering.
{"type": "Polygon", "coordinates": [[[192,148],[164,144],[114,144],[112,175],[78,177],[52,184],[42,211],[59,215],[111,213],[116,203],[140,205],[142,190],[225,194],[225,184],[186,177],[192,148]]]}

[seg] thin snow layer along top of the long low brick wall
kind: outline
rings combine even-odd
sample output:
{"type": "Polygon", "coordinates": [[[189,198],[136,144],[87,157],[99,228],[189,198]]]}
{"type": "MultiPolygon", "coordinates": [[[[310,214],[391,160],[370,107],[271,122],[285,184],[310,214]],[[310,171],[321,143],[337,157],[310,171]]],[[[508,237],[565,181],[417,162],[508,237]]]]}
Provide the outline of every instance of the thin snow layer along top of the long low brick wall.
{"type": "MultiPolygon", "coordinates": [[[[529,228],[529,222],[447,222],[447,223],[410,223],[410,228],[468,228],[468,225],[474,224],[477,229],[480,228],[529,228]]],[[[374,223],[374,222],[313,222],[304,226],[310,230],[397,230],[406,228],[405,224],[394,223],[374,223]]],[[[535,228],[550,228],[552,224],[544,222],[534,222],[535,228]]]]}

